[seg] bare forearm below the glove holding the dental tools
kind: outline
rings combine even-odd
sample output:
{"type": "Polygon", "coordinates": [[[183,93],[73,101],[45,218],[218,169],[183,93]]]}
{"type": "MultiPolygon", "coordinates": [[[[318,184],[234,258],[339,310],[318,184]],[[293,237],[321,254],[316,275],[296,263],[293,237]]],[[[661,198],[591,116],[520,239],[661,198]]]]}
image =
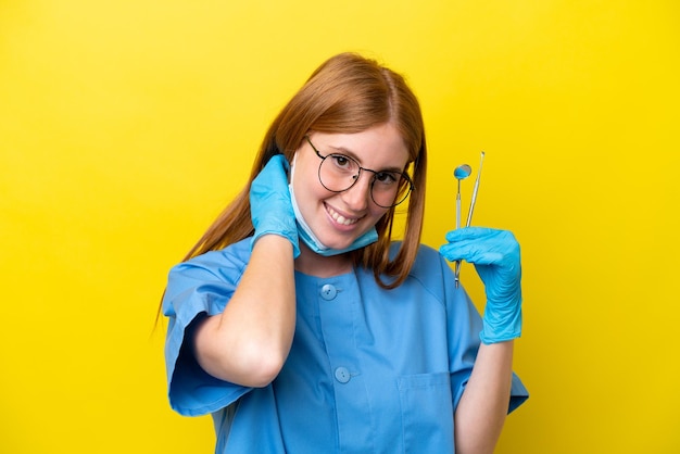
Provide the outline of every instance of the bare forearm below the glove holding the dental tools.
{"type": "Polygon", "coordinates": [[[492,453],[507,415],[514,342],[481,344],[455,413],[456,453],[492,453]]]}

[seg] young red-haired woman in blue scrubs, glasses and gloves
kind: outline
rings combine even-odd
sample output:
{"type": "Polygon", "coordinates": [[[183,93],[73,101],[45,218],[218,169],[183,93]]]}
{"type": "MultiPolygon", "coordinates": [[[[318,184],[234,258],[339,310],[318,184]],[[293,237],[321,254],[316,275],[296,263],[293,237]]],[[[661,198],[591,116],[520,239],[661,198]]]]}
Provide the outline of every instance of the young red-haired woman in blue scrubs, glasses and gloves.
{"type": "Polygon", "coordinates": [[[217,453],[493,451],[527,398],[519,245],[421,245],[425,176],[418,102],[375,61],[331,58],[276,117],[162,304],[171,405],[212,414],[217,453]],[[483,319],[446,260],[475,264],[483,319]]]}

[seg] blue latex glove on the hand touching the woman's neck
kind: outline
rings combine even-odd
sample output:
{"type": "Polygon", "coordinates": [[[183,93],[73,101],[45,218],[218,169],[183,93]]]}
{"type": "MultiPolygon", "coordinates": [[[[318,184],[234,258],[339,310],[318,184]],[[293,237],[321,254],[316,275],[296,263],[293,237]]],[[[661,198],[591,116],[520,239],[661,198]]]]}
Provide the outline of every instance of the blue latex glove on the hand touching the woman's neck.
{"type": "Polygon", "coordinates": [[[295,213],[288,190],[286,156],[275,154],[257,174],[250,187],[250,215],[255,227],[251,248],[263,235],[278,235],[293,245],[293,257],[300,255],[295,213]]]}

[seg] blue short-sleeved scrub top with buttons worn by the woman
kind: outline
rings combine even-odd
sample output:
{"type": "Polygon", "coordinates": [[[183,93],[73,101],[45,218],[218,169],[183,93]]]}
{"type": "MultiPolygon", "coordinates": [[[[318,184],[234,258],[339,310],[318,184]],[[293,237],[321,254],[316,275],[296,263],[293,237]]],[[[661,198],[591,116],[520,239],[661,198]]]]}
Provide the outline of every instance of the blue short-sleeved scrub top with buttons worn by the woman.
{"type": "MultiPolygon", "coordinates": [[[[393,290],[364,268],[331,278],[295,273],[292,348],[264,388],[210,376],[184,342],[197,317],[224,311],[249,258],[245,239],[181,263],[163,301],[171,406],[212,414],[216,453],[454,452],[453,414],[482,326],[437,251],[421,247],[393,290]]],[[[508,412],[527,398],[513,375],[508,412]]]]}

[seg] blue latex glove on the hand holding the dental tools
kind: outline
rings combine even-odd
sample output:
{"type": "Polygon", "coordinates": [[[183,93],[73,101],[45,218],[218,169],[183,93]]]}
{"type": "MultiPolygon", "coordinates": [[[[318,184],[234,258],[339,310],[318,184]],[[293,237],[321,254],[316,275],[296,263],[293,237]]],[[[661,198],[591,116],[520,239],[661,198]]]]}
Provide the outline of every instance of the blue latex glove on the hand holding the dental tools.
{"type": "Polygon", "coordinates": [[[506,230],[466,227],[446,234],[448,244],[439,252],[449,261],[475,264],[484,282],[487,305],[483,343],[503,342],[521,335],[521,262],[519,243],[506,230]]]}

